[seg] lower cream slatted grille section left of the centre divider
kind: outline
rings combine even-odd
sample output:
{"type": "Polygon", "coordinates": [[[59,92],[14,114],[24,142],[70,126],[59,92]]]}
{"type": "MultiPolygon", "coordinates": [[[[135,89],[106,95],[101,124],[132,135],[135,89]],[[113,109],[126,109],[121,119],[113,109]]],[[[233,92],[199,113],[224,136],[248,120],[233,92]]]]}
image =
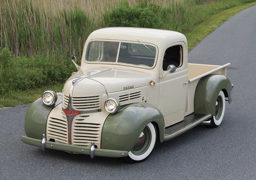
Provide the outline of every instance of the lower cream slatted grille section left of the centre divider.
{"type": "Polygon", "coordinates": [[[62,119],[49,117],[47,121],[47,136],[48,141],[51,139],[55,142],[68,143],[68,124],[66,116],[62,112],[62,119]]]}

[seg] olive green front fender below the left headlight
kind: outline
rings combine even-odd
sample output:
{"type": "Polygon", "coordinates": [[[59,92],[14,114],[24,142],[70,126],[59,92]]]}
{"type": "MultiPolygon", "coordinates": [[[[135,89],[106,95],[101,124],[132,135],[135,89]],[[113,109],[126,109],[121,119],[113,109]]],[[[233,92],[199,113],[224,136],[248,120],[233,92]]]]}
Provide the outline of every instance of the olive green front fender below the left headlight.
{"type": "MultiPolygon", "coordinates": [[[[57,94],[58,100],[55,106],[62,102],[62,93],[57,94]]],[[[45,134],[48,115],[55,106],[44,105],[41,98],[31,104],[25,116],[24,129],[26,136],[33,139],[42,139],[42,135],[45,134]]]]}

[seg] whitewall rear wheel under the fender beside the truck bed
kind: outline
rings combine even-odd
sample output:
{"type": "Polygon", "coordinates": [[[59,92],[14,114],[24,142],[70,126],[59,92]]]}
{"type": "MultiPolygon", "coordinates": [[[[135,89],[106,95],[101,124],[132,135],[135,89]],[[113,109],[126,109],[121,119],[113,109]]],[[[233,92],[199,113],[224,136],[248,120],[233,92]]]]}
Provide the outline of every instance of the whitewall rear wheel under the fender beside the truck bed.
{"type": "Polygon", "coordinates": [[[218,127],[223,121],[225,113],[225,95],[223,91],[220,91],[215,103],[215,116],[211,119],[211,127],[218,127]]]}

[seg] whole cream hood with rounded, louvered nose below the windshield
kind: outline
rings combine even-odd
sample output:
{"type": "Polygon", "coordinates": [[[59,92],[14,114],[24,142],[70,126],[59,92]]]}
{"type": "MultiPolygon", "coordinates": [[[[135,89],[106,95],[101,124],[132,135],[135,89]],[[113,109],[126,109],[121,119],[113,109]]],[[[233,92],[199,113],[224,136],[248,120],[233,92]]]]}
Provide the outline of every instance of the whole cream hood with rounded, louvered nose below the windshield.
{"type": "MultiPolygon", "coordinates": [[[[149,84],[150,74],[141,73],[131,70],[120,70],[117,68],[102,68],[89,70],[85,73],[81,70],[73,74],[66,82],[63,88],[63,108],[68,107],[69,95],[72,96],[72,107],[82,110],[103,109],[107,94],[114,92],[133,92],[132,89],[144,87],[149,84]],[[147,79],[146,79],[147,78],[147,79]],[[71,93],[71,94],[70,94],[71,93]]],[[[143,100],[146,96],[142,89],[137,90],[139,93],[133,97],[133,101],[143,100]],[[142,95],[143,94],[143,95],[142,95]]],[[[115,94],[118,99],[120,94],[115,94]]],[[[114,96],[112,94],[112,96],[114,96]]],[[[126,97],[126,96],[125,96],[126,97]]],[[[130,99],[126,98],[130,103],[130,99]]],[[[123,100],[124,101],[124,100],[123,100]]]]}

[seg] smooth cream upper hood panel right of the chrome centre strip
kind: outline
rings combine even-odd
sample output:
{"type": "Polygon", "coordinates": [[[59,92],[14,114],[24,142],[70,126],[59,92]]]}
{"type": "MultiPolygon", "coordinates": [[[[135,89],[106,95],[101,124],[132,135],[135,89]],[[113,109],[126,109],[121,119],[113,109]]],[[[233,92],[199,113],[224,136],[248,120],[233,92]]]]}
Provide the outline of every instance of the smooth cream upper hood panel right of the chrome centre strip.
{"type": "Polygon", "coordinates": [[[111,68],[109,70],[91,75],[87,78],[99,82],[105,87],[107,93],[112,93],[146,86],[149,84],[148,80],[146,79],[147,77],[150,77],[150,74],[132,70],[111,68]]]}

